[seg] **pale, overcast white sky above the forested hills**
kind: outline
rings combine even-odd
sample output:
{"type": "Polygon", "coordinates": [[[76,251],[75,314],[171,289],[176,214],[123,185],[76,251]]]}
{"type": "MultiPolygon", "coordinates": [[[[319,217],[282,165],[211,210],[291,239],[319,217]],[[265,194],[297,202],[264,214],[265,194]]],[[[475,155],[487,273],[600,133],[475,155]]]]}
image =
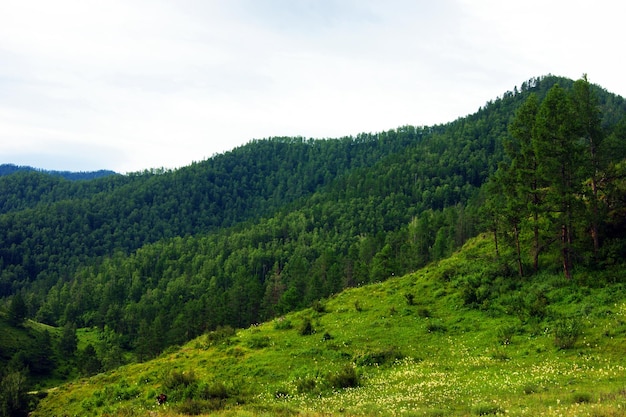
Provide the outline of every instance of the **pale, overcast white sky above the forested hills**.
{"type": "Polygon", "coordinates": [[[0,0],[0,164],[175,169],[252,139],[476,112],[524,81],[626,96],[613,0],[0,0]]]}

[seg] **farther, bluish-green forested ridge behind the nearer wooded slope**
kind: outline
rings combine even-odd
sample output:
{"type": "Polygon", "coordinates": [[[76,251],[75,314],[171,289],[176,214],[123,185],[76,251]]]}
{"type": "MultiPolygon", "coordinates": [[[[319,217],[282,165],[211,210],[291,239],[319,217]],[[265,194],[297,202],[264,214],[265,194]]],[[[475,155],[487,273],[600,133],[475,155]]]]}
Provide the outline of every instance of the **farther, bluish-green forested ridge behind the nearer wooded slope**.
{"type": "Polygon", "coordinates": [[[116,251],[270,215],[421,134],[253,141],[179,170],[94,181],[36,172],[0,177],[0,297],[21,288],[45,294],[79,265],[116,251]]]}

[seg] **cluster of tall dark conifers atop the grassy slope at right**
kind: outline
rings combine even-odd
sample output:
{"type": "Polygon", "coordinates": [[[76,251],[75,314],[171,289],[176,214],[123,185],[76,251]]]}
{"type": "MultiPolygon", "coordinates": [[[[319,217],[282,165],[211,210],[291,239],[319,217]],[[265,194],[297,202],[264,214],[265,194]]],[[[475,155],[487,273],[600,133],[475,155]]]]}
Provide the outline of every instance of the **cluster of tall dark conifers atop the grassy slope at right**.
{"type": "Polygon", "coordinates": [[[602,113],[585,76],[569,90],[555,84],[544,98],[531,94],[509,125],[485,213],[496,248],[502,237],[520,276],[538,271],[541,258],[558,260],[571,279],[576,266],[624,255],[626,119],[606,123],[602,113]]]}

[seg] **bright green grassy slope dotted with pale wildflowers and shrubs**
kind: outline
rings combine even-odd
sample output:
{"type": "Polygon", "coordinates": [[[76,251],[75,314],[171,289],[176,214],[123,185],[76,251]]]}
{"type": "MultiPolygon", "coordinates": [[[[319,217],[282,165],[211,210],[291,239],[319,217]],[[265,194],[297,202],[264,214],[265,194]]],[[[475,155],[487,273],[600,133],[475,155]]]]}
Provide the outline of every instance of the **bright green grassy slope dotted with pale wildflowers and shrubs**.
{"type": "Polygon", "coordinates": [[[413,274],[212,332],[54,389],[33,416],[626,416],[626,291],[600,285],[620,272],[521,281],[491,253],[477,238],[413,274]]]}

